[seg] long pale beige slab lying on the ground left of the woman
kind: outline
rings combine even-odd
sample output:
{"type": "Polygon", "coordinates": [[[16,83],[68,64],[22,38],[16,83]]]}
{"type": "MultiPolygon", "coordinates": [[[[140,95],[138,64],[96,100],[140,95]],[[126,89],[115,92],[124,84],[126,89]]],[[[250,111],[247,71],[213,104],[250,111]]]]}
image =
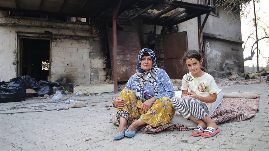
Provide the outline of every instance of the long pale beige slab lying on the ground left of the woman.
{"type": "MultiPolygon", "coordinates": [[[[76,92],[80,89],[86,89],[90,94],[91,93],[105,93],[105,92],[112,92],[114,91],[113,84],[99,84],[99,85],[76,85],[74,86],[73,90],[76,92]]],[[[85,93],[85,91],[81,91],[78,93],[85,93]]]]}

